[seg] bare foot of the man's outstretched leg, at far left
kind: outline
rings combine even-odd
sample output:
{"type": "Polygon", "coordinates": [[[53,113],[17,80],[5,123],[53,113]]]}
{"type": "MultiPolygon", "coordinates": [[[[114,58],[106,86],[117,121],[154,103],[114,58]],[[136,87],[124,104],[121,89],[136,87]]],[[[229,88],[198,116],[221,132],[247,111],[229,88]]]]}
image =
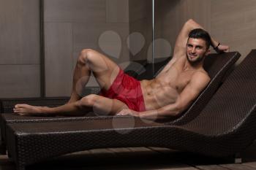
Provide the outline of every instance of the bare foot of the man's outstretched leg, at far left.
{"type": "Polygon", "coordinates": [[[34,107],[29,104],[16,104],[13,112],[21,116],[48,116],[45,112],[48,107],[34,107]]]}

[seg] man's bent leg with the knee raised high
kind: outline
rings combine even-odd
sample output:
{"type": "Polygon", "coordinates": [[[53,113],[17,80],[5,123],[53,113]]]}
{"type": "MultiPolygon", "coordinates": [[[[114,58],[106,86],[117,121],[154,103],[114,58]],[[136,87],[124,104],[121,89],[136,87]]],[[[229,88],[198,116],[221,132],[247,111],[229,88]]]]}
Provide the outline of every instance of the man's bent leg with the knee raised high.
{"type": "Polygon", "coordinates": [[[116,63],[95,50],[82,50],[75,66],[69,103],[82,98],[83,88],[89,81],[91,72],[99,83],[99,87],[108,90],[115,80],[119,68],[116,63]]]}

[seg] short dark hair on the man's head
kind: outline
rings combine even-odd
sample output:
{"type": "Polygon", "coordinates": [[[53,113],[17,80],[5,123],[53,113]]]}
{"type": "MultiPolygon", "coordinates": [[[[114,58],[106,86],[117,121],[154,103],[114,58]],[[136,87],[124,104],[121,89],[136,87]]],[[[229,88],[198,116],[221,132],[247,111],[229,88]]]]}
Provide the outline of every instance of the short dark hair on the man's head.
{"type": "Polygon", "coordinates": [[[209,47],[211,45],[211,36],[208,34],[207,31],[205,31],[201,28],[196,28],[196,29],[193,29],[192,31],[190,31],[189,38],[205,40],[207,49],[209,49],[209,47]]]}

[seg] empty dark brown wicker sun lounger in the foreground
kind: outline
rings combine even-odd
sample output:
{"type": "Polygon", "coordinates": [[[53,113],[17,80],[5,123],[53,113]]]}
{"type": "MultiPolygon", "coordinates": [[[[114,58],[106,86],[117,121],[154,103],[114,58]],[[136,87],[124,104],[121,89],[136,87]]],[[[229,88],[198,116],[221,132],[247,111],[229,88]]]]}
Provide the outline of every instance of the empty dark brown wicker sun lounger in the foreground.
{"type": "Polygon", "coordinates": [[[256,50],[227,77],[197,117],[182,125],[135,117],[8,123],[7,149],[19,170],[69,152],[105,147],[169,147],[225,157],[256,137],[256,50]]]}

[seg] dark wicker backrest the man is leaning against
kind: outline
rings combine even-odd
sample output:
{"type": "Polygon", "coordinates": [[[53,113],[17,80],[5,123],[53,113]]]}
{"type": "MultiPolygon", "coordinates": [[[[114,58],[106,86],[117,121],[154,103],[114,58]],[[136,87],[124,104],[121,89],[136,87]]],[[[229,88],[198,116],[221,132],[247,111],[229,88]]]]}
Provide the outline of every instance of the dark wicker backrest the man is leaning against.
{"type": "Polygon", "coordinates": [[[239,57],[240,53],[238,52],[208,55],[204,63],[204,68],[211,77],[211,82],[208,83],[207,87],[200,93],[190,107],[181,114],[181,117],[170,123],[182,125],[197,117],[222,84],[227,72],[232,69],[239,57]]]}

